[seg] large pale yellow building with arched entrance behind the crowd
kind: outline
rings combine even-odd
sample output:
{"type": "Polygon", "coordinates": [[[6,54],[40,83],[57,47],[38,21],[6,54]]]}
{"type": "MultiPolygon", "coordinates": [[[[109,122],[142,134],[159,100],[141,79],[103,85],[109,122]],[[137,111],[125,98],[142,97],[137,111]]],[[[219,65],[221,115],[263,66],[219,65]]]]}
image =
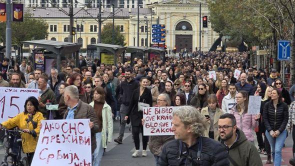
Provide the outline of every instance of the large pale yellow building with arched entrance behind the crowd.
{"type": "MultiPolygon", "coordinates": [[[[58,0],[57,2],[60,3],[58,0]]],[[[108,0],[102,0],[102,2],[108,4],[108,0]]],[[[199,49],[200,42],[201,50],[208,50],[218,37],[218,34],[211,28],[205,0],[147,0],[142,1],[142,4],[143,8],[139,8],[138,46],[147,46],[151,43],[151,24],[156,24],[157,20],[160,24],[165,24],[165,44],[168,49],[176,47],[177,51],[184,48],[187,51],[193,51],[196,47],[199,49]],[[200,3],[201,5],[199,5],[200,3]],[[199,28],[199,6],[201,6],[201,16],[208,16],[207,28],[203,28],[202,23],[199,28]],[[199,36],[201,36],[201,40],[199,40],[199,36]]],[[[118,0],[117,5],[123,7],[114,7],[114,24],[120,27],[121,33],[125,36],[126,45],[137,46],[137,8],[133,8],[137,6],[137,2],[136,0],[118,0]]],[[[102,8],[101,14],[102,20],[104,20],[102,28],[106,22],[112,21],[112,6],[105,6],[107,7],[102,8]]],[[[28,8],[34,17],[41,17],[47,21],[49,25],[48,39],[67,41],[69,34],[68,15],[55,7],[28,8]]],[[[68,12],[68,8],[63,9],[68,12]]],[[[74,41],[82,43],[83,48],[87,44],[96,43],[98,8],[96,6],[85,9],[75,7],[74,13],[76,13],[74,26],[80,29],[74,36],[74,41]]]]}

